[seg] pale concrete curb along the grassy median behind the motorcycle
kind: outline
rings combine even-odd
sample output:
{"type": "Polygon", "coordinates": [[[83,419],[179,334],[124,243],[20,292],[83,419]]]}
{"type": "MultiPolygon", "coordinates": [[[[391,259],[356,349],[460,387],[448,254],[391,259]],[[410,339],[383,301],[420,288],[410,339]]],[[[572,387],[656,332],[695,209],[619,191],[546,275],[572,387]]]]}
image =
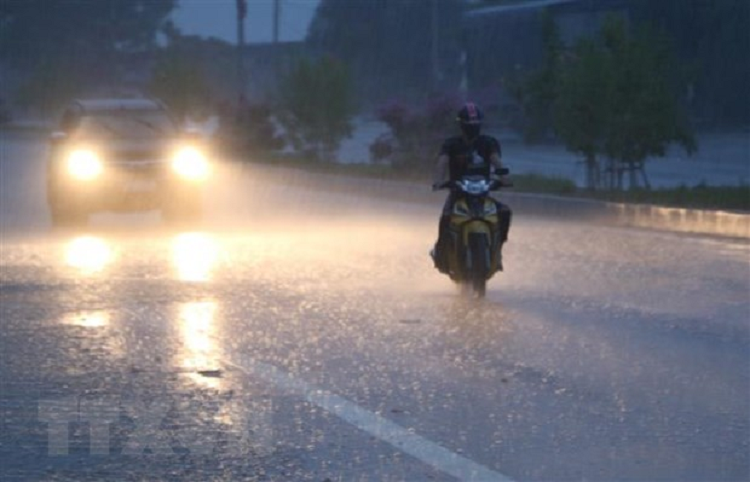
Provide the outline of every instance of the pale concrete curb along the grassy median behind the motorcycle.
{"type": "MultiPolygon", "coordinates": [[[[350,195],[366,195],[399,202],[430,204],[439,209],[445,193],[413,181],[318,173],[277,166],[253,166],[253,170],[276,172],[296,187],[322,189],[350,195]]],[[[750,239],[750,214],[701,209],[668,208],[646,204],[609,203],[544,194],[505,191],[500,199],[516,214],[627,226],[660,231],[750,239]]]]}

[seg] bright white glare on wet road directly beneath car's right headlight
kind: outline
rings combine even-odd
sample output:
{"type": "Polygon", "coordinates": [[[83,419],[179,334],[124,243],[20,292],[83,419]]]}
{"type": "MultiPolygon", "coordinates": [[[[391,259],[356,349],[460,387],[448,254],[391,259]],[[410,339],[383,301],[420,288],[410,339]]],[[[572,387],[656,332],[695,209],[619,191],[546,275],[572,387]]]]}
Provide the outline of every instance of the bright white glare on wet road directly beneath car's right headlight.
{"type": "Polygon", "coordinates": [[[174,239],[172,252],[180,280],[209,280],[218,257],[218,246],[213,238],[200,233],[181,234],[174,239]]]}

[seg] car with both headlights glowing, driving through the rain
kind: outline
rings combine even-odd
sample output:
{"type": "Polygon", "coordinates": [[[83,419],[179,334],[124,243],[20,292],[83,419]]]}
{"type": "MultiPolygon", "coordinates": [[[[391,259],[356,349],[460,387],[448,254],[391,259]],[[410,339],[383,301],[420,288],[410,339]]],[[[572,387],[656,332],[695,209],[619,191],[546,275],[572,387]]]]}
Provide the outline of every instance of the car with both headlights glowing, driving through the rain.
{"type": "Polygon", "coordinates": [[[52,133],[47,202],[54,226],[82,225],[101,211],[161,210],[167,222],[202,217],[211,165],[160,101],[72,101],[52,133]]]}

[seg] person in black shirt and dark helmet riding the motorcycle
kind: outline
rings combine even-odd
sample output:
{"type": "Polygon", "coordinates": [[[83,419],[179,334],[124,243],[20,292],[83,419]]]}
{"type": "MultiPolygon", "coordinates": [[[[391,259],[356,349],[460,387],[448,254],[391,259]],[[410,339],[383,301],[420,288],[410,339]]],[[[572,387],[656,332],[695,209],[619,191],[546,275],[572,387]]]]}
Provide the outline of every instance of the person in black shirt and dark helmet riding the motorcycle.
{"type": "MultiPolygon", "coordinates": [[[[483,118],[482,111],[473,102],[465,103],[458,111],[456,121],[461,128],[461,135],[450,137],[443,142],[435,169],[433,190],[438,189],[439,185],[446,181],[446,177],[450,181],[458,181],[464,176],[471,175],[490,178],[493,175],[493,168],[496,171],[502,169],[500,143],[492,136],[481,134],[483,118]]],[[[501,176],[499,180],[507,182],[505,176],[501,176]]],[[[435,268],[441,273],[448,272],[450,215],[456,201],[457,193],[451,191],[443,206],[438,239],[431,252],[435,268]]],[[[495,200],[495,203],[500,230],[498,266],[502,271],[502,246],[508,240],[512,212],[508,206],[499,201],[495,200]]]]}

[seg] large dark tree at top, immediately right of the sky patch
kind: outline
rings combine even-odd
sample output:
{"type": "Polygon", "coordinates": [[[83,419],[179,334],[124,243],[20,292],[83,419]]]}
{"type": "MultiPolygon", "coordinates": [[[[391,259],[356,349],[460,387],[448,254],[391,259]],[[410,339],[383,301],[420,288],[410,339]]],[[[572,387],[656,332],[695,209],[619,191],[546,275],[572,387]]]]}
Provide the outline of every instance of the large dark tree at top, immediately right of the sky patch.
{"type": "Polygon", "coordinates": [[[349,65],[361,97],[442,90],[460,81],[462,8],[460,0],[321,0],[307,41],[349,65]]]}

